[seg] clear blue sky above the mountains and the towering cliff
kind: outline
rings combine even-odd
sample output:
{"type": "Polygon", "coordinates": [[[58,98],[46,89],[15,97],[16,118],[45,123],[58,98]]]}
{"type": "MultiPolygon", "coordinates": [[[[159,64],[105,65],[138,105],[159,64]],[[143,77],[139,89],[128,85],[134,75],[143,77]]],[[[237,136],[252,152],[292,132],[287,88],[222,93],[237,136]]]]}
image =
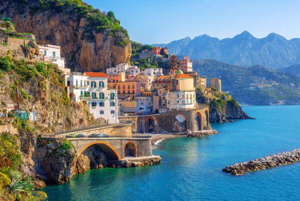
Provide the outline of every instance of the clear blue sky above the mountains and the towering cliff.
{"type": "Polygon", "coordinates": [[[169,43],[207,34],[232,38],[242,31],[256,38],[277,33],[300,38],[299,0],[83,0],[100,11],[113,11],[130,39],[143,44],[169,43]]]}

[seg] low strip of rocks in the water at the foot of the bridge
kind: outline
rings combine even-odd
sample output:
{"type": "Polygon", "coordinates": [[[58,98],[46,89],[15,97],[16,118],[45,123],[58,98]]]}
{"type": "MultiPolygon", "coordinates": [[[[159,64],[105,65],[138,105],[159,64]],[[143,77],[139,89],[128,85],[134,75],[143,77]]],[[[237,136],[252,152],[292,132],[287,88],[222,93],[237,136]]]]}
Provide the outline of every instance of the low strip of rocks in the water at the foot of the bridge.
{"type": "Polygon", "coordinates": [[[141,158],[136,160],[117,160],[111,162],[111,167],[114,168],[122,168],[122,167],[137,167],[137,166],[144,166],[144,165],[153,165],[157,164],[161,161],[160,156],[155,156],[152,158],[141,158]]]}

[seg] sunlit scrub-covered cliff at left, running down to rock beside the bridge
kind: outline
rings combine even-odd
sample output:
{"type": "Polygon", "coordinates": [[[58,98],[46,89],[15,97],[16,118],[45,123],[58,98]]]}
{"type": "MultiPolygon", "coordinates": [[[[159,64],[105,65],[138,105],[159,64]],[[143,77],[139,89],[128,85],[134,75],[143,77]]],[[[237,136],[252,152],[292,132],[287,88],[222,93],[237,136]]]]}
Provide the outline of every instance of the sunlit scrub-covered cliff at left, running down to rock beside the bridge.
{"type": "Polygon", "coordinates": [[[5,113],[11,107],[36,111],[34,122],[0,120],[5,125],[0,127],[0,134],[7,131],[16,134],[22,153],[20,170],[34,178],[36,187],[43,186],[43,181],[63,182],[72,175],[68,169],[72,152],[65,151],[67,145],[63,141],[54,142],[44,148],[38,134],[104,122],[93,118],[86,103],[76,103],[67,97],[63,76],[56,66],[14,60],[8,55],[0,58],[0,112],[5,113]]]}

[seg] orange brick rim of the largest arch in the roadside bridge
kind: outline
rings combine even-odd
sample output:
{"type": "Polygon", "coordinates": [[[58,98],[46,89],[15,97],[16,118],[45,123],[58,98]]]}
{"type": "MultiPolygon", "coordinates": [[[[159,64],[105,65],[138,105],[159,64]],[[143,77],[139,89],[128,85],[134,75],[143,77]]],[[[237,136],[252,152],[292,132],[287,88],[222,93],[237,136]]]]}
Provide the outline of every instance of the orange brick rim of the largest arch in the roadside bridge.
{"type": "Polygon", "coordinates": [[[117,152],[117,150],[108,142],[105,141],[100,141],[100,140],[95,140],[92,142],[89,142],[87,144],[85,144],[80,151],[77,153],[77,158],[81,155],[81,153],[87,149],[88,147],[92,146],[92,145],[97,145],[99,146],[103,152],[106,154],[107,158],[110,160],[120,160],[121,156],[120,154],[117,152]]]}

